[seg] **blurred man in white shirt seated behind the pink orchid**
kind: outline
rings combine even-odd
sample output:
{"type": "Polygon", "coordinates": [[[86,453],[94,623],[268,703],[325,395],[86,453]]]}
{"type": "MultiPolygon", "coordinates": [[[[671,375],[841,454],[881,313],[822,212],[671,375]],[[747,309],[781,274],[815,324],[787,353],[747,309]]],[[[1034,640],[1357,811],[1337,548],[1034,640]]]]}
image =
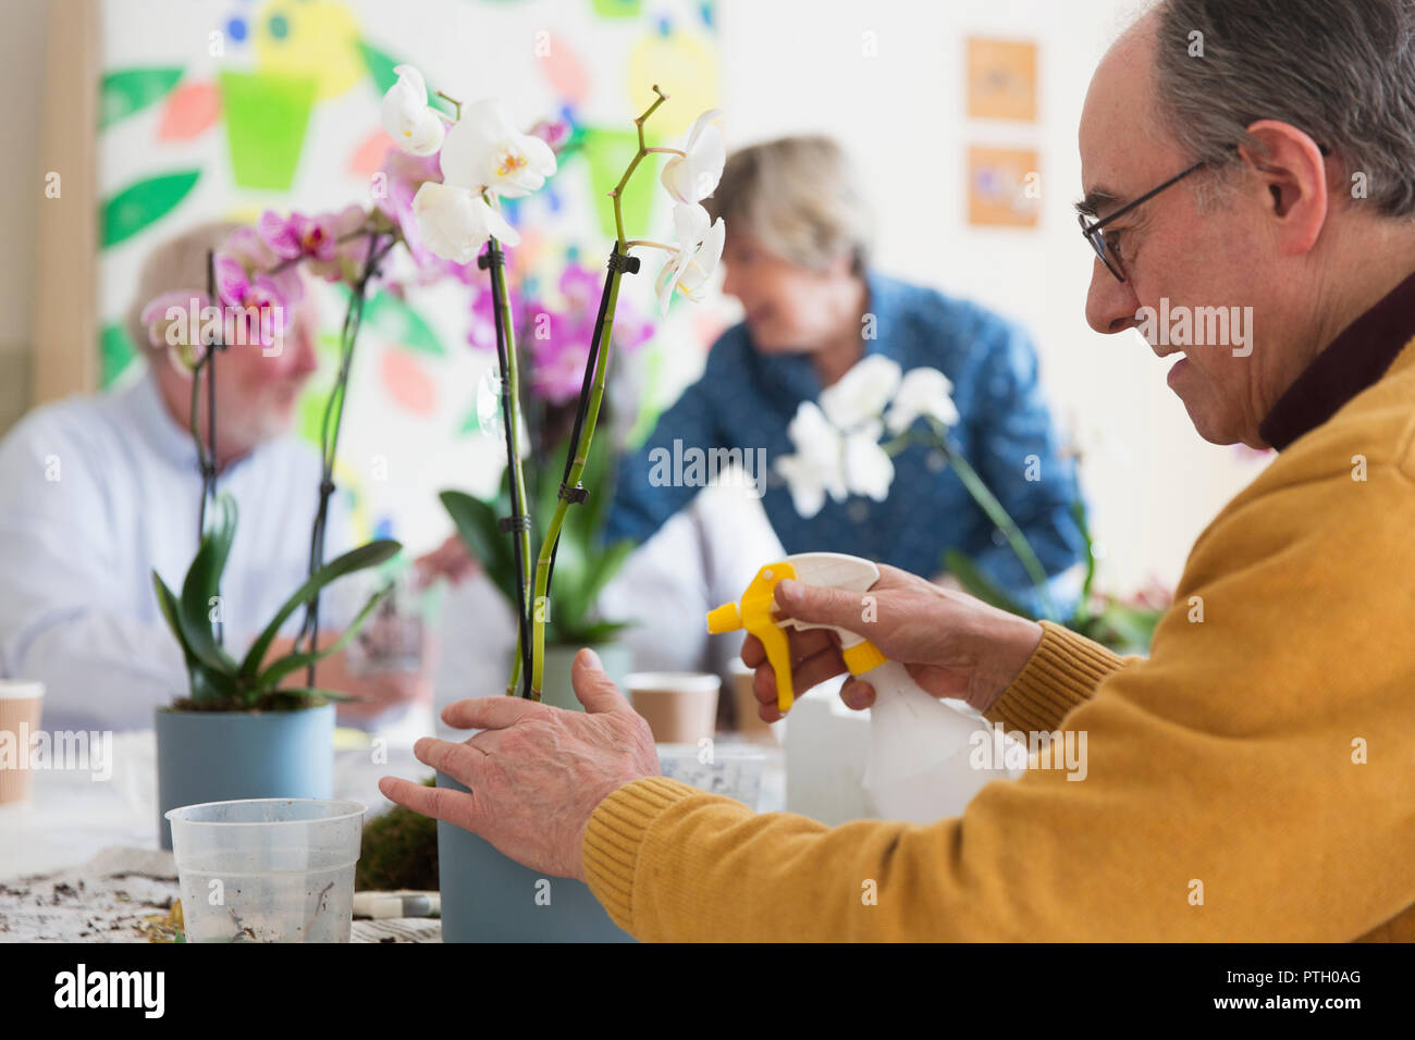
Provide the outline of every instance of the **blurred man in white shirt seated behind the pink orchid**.
{"type": "MultiPolygon", "coordinates": [[[[0,674],[44,682],[50,729],[146,729],[153,709],[185,689],[151,573],[177,589],[197,550],[191,375],[170,364],[166,338],[142,316],[164,293],[204,286],[208,250],[235,226],[198,225],[147,256],[129,314],[147,359],[136,381],[38,408],[0,441],[0,674]]],[[[307,299],[277,349],[231,349],[219,362],[218,490],[238,507],[224,577],[232,645],[253,640],[307,573],[308,535],[300,532],[314,518],[320,460],[290,426],[318,368],[316,317],[307,299]]],[[[205,396],[197,426],[205,441],[205,396]]],[[[348,538],[337,501],[331,512],[333,557],[348,538]]],[[[291,627],[282,651],[293,644],[291,627]]],[[[338,706],[352,726],[430,699],[426,676],[355,674],[342,652],[320,662],[317,679],[358,698],[338,706]]]]}

